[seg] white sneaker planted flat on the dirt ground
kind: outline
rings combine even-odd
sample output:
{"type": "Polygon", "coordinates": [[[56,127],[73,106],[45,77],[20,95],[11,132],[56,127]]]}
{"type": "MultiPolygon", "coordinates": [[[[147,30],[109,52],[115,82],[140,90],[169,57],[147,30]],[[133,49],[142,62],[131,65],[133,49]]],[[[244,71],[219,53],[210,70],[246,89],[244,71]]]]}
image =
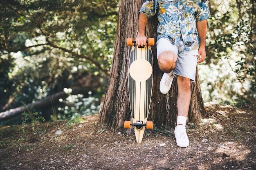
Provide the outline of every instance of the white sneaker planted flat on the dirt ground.
{"type": "Polygon", "coordinates": [[[186,135],[186,127],[183,125],[178,125],[175,127],[174,134],[176,137],[177,146],[188,147],[189,137],[186,135]]]}

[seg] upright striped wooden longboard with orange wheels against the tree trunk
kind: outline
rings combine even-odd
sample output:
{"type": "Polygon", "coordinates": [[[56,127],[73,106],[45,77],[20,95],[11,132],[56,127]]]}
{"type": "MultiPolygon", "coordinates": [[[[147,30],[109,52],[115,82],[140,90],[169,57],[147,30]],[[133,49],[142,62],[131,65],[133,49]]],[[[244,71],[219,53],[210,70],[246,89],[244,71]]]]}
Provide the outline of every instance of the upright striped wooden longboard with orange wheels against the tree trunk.
{"type": "Polygon", "coordinates": [[[138,46],[132,38],[127,39],[132,46],[129,62],[129,98],[131,121],[124,122],[124,128],[134,126],[135,137],[141,143],[145,127],[153,129],[153,121],[148,120],[153,86],[153,55],[150,46],[154,46],[154,38],[148,39],[148,45],[138,46]]]}

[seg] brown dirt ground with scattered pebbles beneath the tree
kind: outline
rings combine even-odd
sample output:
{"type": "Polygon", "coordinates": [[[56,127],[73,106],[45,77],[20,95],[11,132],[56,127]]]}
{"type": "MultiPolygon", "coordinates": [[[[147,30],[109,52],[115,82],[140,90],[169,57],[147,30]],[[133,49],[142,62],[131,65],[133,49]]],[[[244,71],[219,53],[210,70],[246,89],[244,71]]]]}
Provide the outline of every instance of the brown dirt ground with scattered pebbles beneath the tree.
{"type": "Polygon", "coordinates": [[[134,135],[83,122],[0,127],[0,170],[256,170],[256,109],[206,103],[209,118],[188,123],[190,145],[173,129],[134,135]]]}

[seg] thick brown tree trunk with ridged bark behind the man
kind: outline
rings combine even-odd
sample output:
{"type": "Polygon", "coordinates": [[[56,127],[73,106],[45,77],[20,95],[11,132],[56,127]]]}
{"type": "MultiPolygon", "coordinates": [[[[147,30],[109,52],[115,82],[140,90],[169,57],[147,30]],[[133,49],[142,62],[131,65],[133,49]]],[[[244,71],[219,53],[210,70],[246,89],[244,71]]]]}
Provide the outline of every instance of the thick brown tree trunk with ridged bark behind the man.
{"type": "MultiPolygon", "coordinates": [[[[124,126],[124,120],[130,119],[128,65],[131,47],[126,46],[126,38],[136,38],[138,11],[143,2],[144,0],[121,0],[120,2],[114,58],[105,100],[99,113],[99,123],[106,123],[115,131],[121,130],[124,126]]],[[[157,23],[156,16],[148,20],[146,26],[148,38],[155,38],[156,40],[157,23]]],[[[154,78],[148,120],[153,121],[154,124],[171,128],[175,126],[177,117],[177,79],[173,80],[173,86],[168,94],[164,95],[159,91],[159,82],[163,72],[157,63],[156,46],[151,48],[154,60],[154,78]]],[[[198,73],[191,89],[189,121],[198,122],[205,115],[198,73]]]]}

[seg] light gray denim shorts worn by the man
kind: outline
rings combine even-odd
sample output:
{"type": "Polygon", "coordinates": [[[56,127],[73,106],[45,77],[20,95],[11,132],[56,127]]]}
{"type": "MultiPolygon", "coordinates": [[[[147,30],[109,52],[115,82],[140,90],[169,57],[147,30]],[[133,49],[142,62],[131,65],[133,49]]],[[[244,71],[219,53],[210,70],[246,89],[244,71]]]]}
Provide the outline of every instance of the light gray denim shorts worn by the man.
{"type": "Polygon", "coordinates": [[[172,51],[178,57],[176,67],[173,71],[175,77],[180,75],[195,81],[195,72],[197,66],[198,49],[186,51],[183,40],[180,41],[179,47],[173,45],[165,38],[157,40],[157,57],[164,51],[172,51]]]}

